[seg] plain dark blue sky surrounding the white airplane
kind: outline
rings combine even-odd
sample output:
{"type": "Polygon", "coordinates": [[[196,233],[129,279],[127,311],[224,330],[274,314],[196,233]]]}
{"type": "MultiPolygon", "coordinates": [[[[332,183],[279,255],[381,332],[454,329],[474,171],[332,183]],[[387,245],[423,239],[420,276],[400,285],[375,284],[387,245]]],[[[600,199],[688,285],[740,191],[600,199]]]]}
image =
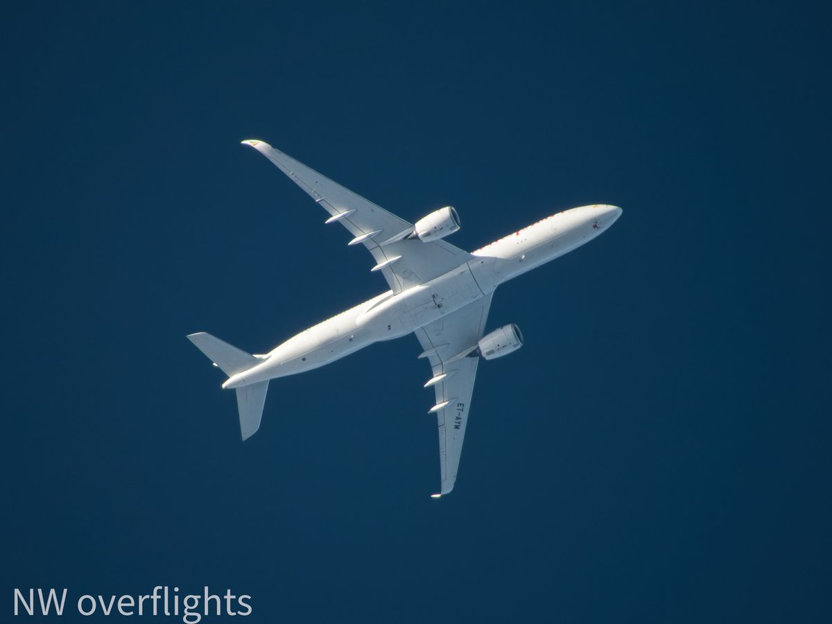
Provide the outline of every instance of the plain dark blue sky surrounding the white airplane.
{"type": "Polygon", "coordinates": [[[247,622],[828,621],[820,2],[4,13],[3,619],[169,584],[247,622]],[[185,335],[262,352],[386,288],[244,138],[453,204],[467,249],[625,209],[498,291],[526,346],[452,496],[414,338],[274,382],[240,443],[185,335]]]}

